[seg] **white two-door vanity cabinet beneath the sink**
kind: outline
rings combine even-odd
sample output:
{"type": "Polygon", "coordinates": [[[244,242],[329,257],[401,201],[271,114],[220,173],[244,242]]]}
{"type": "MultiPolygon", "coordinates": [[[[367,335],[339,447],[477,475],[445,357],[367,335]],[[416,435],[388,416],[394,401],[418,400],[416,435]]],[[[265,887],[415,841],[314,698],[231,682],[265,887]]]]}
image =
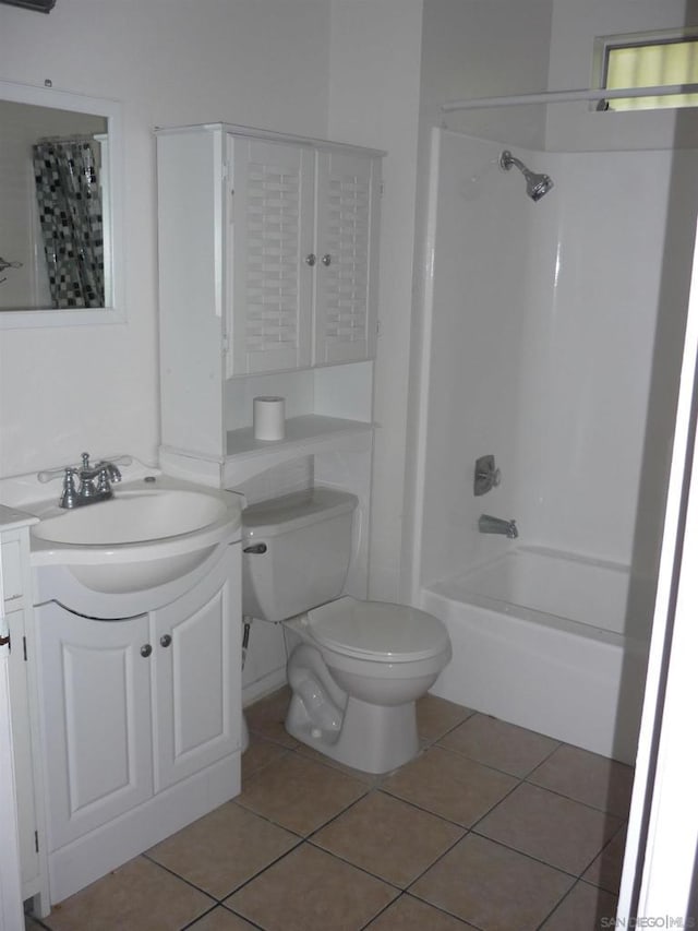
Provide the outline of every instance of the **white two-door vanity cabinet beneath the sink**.
{"type": "Polygon", "coordinates": [[[176,601],[37,611],[51,898],[240,790],[240,545],[176,601]]]}

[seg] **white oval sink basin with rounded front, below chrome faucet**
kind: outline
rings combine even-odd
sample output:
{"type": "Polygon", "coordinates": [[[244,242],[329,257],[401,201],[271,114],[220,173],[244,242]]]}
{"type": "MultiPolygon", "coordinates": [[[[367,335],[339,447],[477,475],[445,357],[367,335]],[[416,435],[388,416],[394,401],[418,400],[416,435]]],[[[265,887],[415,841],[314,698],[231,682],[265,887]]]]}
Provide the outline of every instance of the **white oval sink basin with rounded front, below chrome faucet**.
{"type": "Polygon", "coordinates": [[[240,498],[158,477],[115,488],[113,498],[74,510],[26,505],[32,564],[64,568],[105,595],[144,592],[182,580],[240,535],[240,498]]]}

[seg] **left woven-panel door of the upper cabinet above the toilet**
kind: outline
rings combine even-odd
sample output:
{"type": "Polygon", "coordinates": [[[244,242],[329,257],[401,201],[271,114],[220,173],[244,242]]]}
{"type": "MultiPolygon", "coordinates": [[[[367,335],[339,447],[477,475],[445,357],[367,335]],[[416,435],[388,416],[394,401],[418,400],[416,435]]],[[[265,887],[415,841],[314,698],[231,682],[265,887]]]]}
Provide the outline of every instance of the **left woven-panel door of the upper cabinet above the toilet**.
{"type": "Polygon", "coordinates": [[[232,302],[228,374],[311,361],[314,153],[229,136],[232,302]]]}

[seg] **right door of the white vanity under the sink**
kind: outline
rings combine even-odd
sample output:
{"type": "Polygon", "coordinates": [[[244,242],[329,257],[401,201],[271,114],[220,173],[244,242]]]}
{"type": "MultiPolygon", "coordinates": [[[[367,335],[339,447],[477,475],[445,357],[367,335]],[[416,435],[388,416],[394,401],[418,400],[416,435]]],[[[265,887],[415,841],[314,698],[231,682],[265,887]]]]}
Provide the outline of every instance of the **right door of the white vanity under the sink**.
{"type": "Polygon", "coordinates": [[[240,604],[237,544],[227,547],[204,586],[151,616],[156,791],[239,748],[240,604]]]}

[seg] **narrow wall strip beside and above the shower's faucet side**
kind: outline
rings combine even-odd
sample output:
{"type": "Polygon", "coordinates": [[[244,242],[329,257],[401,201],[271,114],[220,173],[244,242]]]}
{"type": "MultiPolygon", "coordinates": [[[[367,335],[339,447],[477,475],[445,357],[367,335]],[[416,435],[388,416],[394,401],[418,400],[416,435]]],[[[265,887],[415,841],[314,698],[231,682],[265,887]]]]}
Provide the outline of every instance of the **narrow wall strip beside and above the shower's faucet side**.
{"type": "Polygon", "coordinates": [[[422,356],[429,341],[423,317],[424,294],[432,261],[426,243],[431,130],[446,122],[452,129],[507,140],[508,144],[541,144],[545,132],[541,107],[453,114],[444,118],[440,106],[446,100],[543,89],[549,70],[551,15],[552,0],[531,0],[526,4],[518,0],[424,2],[406,442],[409,452],[400,563],[400,593],[405,600],[414,597],[413,584],[419,576],[421,496],[428,484],[440,480],[436,475],[419,474],[417,455],[420,420],[425,416],[420,404],[424,393],[422,356]]]}

